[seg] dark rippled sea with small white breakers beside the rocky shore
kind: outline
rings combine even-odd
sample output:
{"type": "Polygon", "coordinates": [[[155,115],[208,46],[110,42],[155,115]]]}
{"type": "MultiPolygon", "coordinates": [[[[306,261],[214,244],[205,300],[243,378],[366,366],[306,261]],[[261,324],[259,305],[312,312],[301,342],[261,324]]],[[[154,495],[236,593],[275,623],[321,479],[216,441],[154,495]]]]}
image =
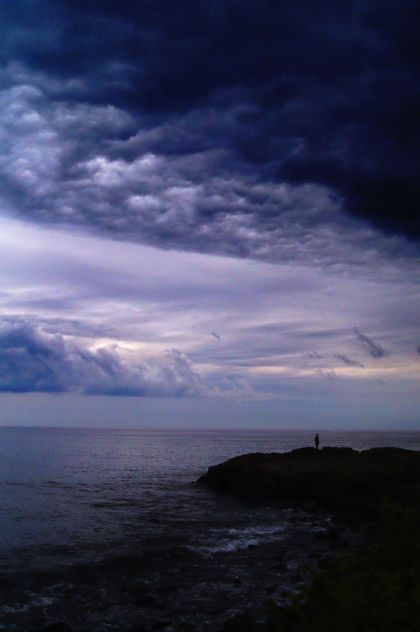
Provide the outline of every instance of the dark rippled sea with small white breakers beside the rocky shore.
{"type": "MultiPolygon", "coordinates": [[[[313,542],[330,518],[248,506],[195,481],[237,454],[313,436],[0,428],[0,629],[212,631],[236,612],[262,621],[267,600],[292,599],[325,554],[313,542]]],[[[417,432],[320,439],[420,450],[417,432]]]]}

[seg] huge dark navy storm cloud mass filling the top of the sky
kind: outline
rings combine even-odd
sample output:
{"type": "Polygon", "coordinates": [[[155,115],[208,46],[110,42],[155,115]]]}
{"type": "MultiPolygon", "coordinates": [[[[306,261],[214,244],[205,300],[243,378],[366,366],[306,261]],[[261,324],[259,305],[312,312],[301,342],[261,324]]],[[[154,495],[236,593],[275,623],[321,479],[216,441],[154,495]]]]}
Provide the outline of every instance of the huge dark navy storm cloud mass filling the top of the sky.
{"type": "Polygon", "coordinates": [[[367,250],[373,238],[352,233],[341,204],[418,239],[419,11],[10,2],[2,190],[37,221],[245,257],[335,263],[353,243],[367,250]],[[332,226],[349,237],[330,252],[332,226]]]}

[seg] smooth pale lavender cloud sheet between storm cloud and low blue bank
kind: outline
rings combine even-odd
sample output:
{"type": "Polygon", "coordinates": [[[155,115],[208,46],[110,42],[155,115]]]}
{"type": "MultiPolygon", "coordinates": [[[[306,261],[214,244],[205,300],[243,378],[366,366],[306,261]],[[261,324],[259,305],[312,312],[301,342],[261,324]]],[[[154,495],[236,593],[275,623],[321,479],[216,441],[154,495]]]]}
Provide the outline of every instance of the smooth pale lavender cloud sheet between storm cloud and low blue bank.
{"type": "MultiPolygon", "coordinates": [[[[402,303],[417,304],[409,279],[366,283],[310,267],[162,252],[16,221],[4,220],[1,228],[0,311],[15,313],[15,324],[25,320],[59,334],[68,349],[113,351],[118,343],[114,351],[130,366],[159,365],[167,362],[165,348],[181,349],[202,376],[204,396],[216,388],[226,396],[229,385],[232,397],[248,396],[234,378],[246,380],[254,397],[284,394],[298,383],[322,389],[329,382],[314,380],[316,367],[335,368],[337,389],[363,389],[373,379],[366,370],[339,372],[345,363],[334,358],[345,353],[364,362],[357,347],[366,342],[354,334],[359,323],[358,331],[376,342],[387,332],[393,355],[378,367],[387,388],[404,374],[418,375],[412,355],[418,327],[411,320],[394,325],[390,317],[402,303]]],[[[72,378],[70,387],[81,384],[72,378]]]]}

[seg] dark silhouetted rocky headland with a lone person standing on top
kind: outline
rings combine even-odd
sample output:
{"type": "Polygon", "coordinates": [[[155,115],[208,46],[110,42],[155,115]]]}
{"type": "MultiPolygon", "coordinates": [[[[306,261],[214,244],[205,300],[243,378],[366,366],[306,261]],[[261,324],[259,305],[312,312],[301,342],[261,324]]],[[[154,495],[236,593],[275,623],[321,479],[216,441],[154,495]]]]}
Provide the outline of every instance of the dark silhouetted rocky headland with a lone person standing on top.
{"type": "Polygon", "coordinates": [[[304,447],[284,454],[243,454],[208,468],[198,482],[251,501],[315,502],[331,511],[374,514],[384,502],[418,504],[420,452],[304,447]]]}

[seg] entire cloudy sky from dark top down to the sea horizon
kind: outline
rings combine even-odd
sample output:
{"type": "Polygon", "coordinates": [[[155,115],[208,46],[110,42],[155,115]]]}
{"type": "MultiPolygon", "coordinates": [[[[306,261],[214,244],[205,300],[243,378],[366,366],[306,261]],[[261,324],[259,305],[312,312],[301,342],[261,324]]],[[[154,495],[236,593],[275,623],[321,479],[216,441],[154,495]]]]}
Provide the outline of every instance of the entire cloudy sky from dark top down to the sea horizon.
{"type": "Polygon", "coordinates": [[[0,13],[1,425],[420,430],[418,3],[0,13]]]}

